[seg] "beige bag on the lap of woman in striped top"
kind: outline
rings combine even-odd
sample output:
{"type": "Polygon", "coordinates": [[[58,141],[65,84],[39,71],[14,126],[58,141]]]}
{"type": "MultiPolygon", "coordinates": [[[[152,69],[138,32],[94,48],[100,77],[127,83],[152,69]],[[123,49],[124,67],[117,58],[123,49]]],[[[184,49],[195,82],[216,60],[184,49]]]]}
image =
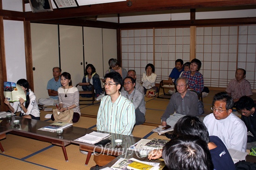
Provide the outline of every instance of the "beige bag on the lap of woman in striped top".
{"type": "Polygon", "coordinates": [[[54,114],[54,122],[67,122],[73,123],[73,109],[69,109],[67,111],[60,112],[58,109],[53,109],[54,114]]]}

